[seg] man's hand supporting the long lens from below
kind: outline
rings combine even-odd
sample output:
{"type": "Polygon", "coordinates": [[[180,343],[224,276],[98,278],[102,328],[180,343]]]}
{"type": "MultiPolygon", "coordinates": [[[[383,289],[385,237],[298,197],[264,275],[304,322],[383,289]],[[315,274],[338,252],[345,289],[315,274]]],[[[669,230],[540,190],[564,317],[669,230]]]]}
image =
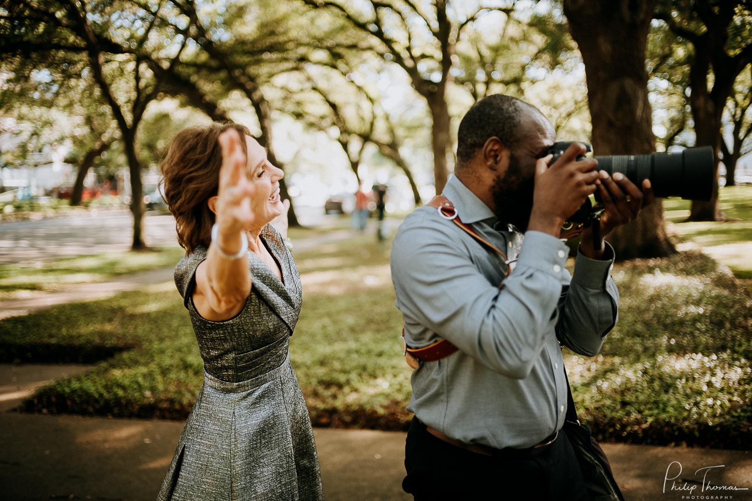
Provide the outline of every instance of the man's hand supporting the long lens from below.
{"type": "MultiPolygon", "coordinates": [[[[635,219],[642,207],[653,203],[653,189],[650,180],[642,182],[642,191],[635,183],[626,176],[617,172],[611,177],[606,171],[599,171],[599,180],[596,182],[598,193],[604,206],[601,216],[601,237],[611,233],[614,228],[635,219]]],[[[602,257],[602,242],[596,242],[593,246],[593,228],[586,228],[581,236],[581,252],[590,258],[602,257]]]]}

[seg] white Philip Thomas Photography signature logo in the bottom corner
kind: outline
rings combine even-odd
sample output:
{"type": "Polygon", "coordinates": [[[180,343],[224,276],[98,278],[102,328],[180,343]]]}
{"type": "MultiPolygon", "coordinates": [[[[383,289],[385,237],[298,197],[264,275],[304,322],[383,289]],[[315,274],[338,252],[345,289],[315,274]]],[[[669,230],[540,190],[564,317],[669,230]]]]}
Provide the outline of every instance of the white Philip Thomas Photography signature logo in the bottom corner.
{"type": "Polygon", "coordinates": [[[663,477],[663,493],[681,493],[680,499],[747,499],[749,487],[724,485],[714,481],[726,465],[703,466],[695,472],[695,478],[681,476],[683,468],[678,461],[672,461],[663,477]],[[740,492],[742,491],[742,492],[740,492]],[[738,496],[736,496],[738,494],[738,496]]]}

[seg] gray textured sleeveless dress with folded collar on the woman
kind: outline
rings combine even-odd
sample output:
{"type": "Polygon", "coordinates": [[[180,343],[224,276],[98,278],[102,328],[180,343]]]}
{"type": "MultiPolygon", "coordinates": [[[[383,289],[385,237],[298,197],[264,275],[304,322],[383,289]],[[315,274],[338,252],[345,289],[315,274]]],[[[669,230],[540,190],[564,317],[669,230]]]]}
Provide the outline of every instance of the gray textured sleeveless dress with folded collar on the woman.
{"type": "Polygon", "coordinates": [[[205,320],[193,306],[196,267],[207,249],[175,267],[204,359],[204,384],[160,500],[323,499],[311,421],[287,350],[302,302],[300,276],[274,227],[266,225],[261,237],[284,284],[251,254],[251,292],[229,320],[205,320]]]}

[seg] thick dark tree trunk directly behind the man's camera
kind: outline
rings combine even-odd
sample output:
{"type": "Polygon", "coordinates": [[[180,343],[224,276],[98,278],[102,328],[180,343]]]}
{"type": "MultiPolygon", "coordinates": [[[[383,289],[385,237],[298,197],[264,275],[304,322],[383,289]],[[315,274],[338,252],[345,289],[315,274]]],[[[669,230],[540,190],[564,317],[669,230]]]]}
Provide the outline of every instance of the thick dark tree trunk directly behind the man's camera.
{"type": "MultiPolygon", "coordinates": [[[[585,63],[596,156],[655,151],[644,68],[654,7],[655,0],[564,2],[569,31],[585,63]]],[[[642,210],[638,219],[609,234],[608,241],[619,259],[675,252],[660,199],[642,210]]]]}

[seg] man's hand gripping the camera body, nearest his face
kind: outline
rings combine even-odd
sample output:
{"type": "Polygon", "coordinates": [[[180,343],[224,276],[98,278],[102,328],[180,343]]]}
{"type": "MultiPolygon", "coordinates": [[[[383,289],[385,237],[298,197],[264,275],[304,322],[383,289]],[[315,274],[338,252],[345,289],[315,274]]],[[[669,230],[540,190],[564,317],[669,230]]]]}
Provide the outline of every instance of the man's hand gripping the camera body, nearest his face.
{"type": "Polygon", "coordinates": [[[572,143],[550,167],[548,162],[551,155],[538,159],[529,230],[559,237],[566,219],[596,192],[599,183],[596,171],[598,161],[594,158],[577,160],[586,152],[584,144],[572,143]]]}

